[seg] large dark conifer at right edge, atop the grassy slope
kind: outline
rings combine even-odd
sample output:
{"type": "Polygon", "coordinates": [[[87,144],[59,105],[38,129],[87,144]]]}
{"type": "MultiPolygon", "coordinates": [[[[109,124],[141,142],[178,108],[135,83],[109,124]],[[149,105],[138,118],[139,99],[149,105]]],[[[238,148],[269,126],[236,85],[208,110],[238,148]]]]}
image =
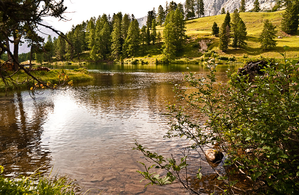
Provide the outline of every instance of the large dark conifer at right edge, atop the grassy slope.
{"type": "Polygon", "coordinates": [[[289,3],[286,7],[286,12],[283,13],[281,20],[281,30],[288,34],[294,34],[298,30],[299,25],[299,3],[294,1],[289,3]]]}

